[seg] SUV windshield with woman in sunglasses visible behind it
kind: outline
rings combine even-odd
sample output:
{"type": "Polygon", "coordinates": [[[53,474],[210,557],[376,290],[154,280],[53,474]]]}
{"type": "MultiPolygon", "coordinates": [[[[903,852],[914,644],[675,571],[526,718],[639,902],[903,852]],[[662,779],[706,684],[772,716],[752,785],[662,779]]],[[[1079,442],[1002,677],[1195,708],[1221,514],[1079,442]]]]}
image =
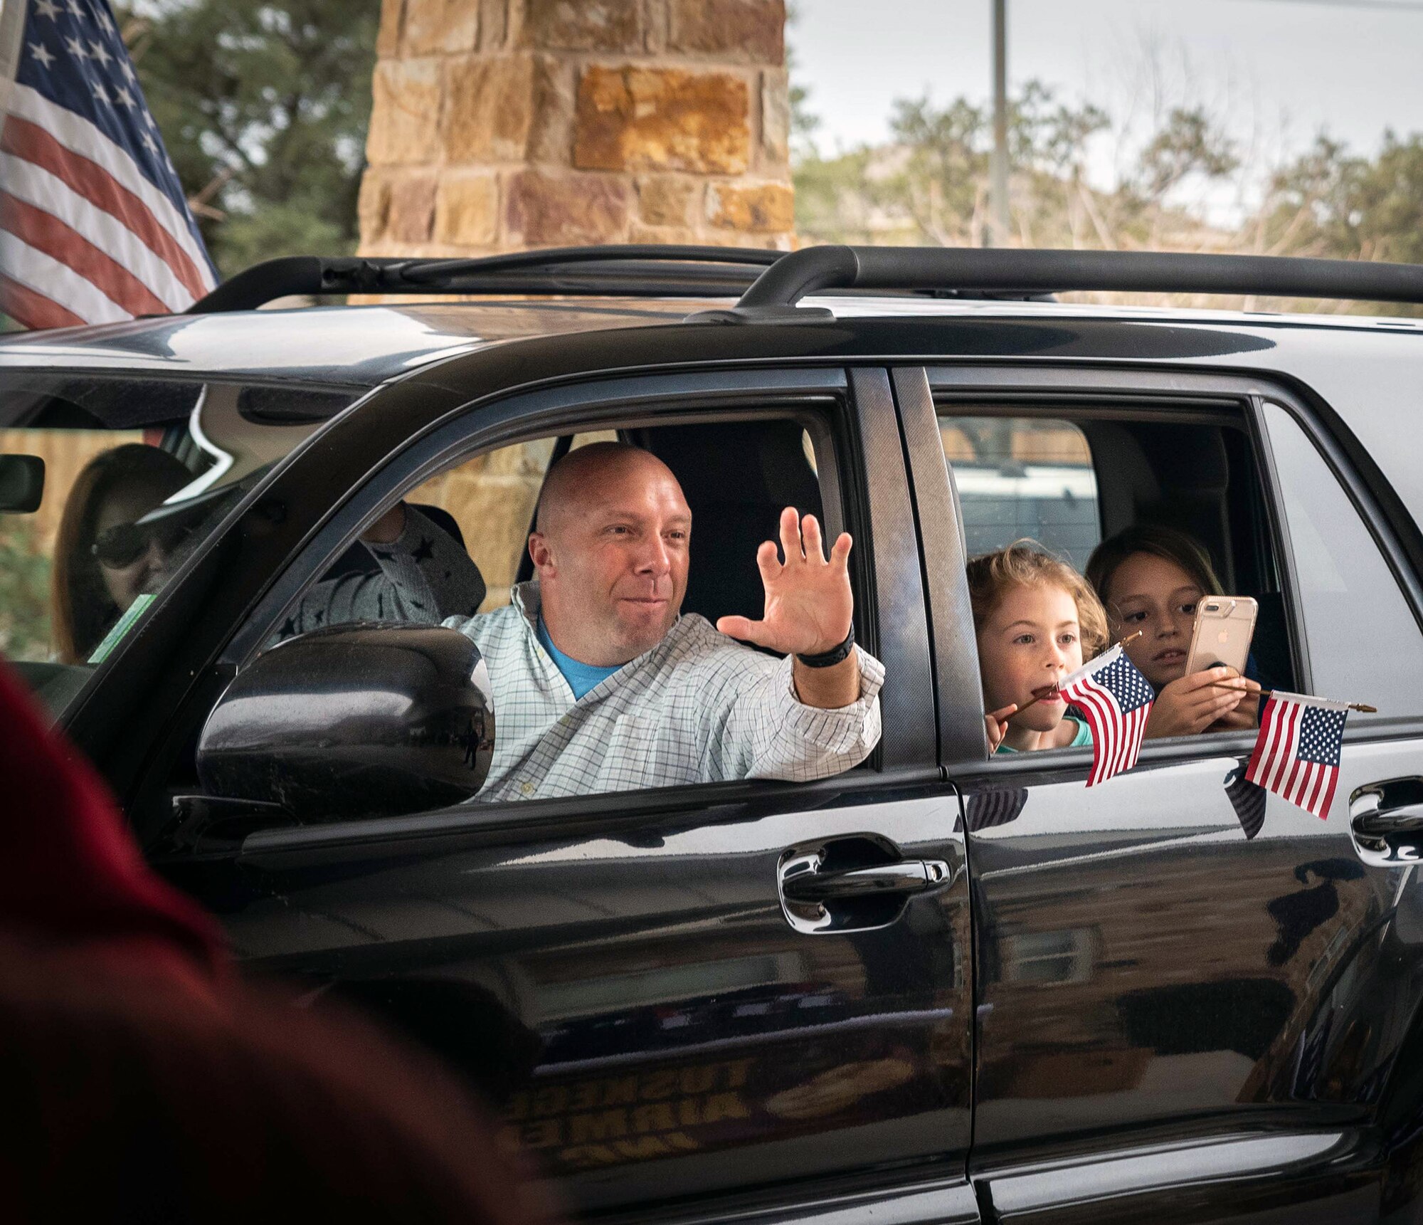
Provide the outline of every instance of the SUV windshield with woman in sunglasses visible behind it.
{"type": "Polygon", "coordinates": [[[0,375],[0,655],[55,715],[350,389],[0,375]]]}

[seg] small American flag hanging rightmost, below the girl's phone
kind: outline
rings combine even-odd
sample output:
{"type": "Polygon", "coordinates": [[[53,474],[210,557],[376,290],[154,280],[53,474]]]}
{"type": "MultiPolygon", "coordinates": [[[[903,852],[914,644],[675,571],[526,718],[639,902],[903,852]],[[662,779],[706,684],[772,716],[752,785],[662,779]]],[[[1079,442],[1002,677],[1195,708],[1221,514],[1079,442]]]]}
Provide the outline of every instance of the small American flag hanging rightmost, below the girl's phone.
{"type": "Polygon", "coordinates": [[[1245,778],[1323,820],[1339,782],[1348,716],[1340,702],[1275,689],[1259,714],[1245,778]]]}

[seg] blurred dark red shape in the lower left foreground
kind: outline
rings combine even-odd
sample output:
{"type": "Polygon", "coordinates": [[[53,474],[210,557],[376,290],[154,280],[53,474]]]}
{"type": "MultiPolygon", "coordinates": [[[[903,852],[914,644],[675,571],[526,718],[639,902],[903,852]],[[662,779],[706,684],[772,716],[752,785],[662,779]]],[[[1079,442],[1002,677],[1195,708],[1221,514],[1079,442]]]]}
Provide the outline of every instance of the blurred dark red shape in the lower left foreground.
{"type": "Polygon", "coordinates": [[[433,1060],[238,983],[3,664],[0,778],[7,1222],[544,1219],[433,1060]]]}

